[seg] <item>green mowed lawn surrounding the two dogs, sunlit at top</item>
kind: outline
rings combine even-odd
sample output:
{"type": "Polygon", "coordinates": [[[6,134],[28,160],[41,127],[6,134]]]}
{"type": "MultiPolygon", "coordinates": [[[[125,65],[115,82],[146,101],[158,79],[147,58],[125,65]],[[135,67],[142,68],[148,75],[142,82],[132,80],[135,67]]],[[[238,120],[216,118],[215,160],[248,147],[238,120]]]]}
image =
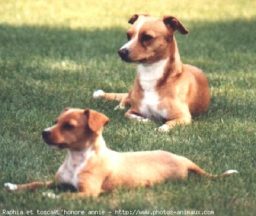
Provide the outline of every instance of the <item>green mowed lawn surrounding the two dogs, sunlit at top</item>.
{"type": "MultiPolygon", "coordinates": [[[[213,210],[214,215],[254,215],[255,1],[1,1],[0,7],[0,215],[2,210],[213,210]],[[135,65],[117,50],[127,20],[138,12],[172,14],[188,28],[176,34],[181,60],[204,70],[212,99],[191,126],[168,133],[160,122],[138,123],[114,111],[117,102],[93,99],[94,90],[127,92],[135,65]],[[47,148],[41,131],[65,107],[89,107],[110,118],[104,130],[116,151],[164,149],[207,172],[237,169],[219,180],[193,174],[185,182],[152,188],[119,188],[99,198],[42,197],[9,193],[5,182],[51,180],[65,158],[47,148]]],[[[148,171],[150,172],[150,170],[148,171]]],[[[64,188],[48,190],[59,194],[64,188]]],[[[25,214],[25,213],[24,213],[25,214]]]]}

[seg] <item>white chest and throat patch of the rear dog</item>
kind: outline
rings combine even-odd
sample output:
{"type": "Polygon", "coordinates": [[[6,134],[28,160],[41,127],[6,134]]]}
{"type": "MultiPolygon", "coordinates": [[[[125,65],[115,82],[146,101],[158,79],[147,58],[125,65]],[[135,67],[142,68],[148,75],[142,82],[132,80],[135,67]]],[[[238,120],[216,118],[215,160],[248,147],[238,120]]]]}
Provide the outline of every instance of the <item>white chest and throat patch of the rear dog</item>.
{"type": "Polygon", "coordinates": [[[167,118],[167,110],[158,109],[160,102],[158,92],[156,92],[156,83],[163,76],[167,61],[168,58],[154,64],[139,64],[137,67],[139,82],[144,92],[139,111],[144,118],[167,118]]]}

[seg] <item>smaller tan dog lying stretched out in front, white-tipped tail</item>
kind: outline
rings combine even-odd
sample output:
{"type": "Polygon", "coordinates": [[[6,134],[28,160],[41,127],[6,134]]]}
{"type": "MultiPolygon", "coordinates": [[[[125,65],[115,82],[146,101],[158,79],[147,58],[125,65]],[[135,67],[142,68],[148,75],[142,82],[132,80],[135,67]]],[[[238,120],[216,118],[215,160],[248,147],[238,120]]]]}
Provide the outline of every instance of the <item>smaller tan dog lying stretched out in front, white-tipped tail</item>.
{"type": "MultiPolygon", "coordinates": [[[[94,196],[110,192],[117,186],[151,186],[169,178],[185,180],[188,171],[200,176],[220,177],[206,173],[191,160],[166,151],[115,152],[106,147],[102,130],[108,117],[97,111],[65,109],[56,124],[42,132],[49,147],[67,148],[68,155],[56,173],[56,181],[75,186],[78,193],[63,195],[94,196]]],[[[35,189],[51,186],[54,181],[23,185],[6,183],[9,190],[35,189]]],[[[44,194],[55,198],[55,194],[44,194]]]]}

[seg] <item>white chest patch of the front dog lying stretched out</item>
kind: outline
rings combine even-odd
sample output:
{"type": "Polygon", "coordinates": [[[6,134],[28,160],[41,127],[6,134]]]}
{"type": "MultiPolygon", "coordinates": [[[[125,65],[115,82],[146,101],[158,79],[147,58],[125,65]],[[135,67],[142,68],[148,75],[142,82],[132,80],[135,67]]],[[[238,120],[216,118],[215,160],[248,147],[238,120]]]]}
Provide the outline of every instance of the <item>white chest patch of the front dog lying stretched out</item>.
{"type": "Polygon", "coordinates": [[[86,163],[94,155],[95,151],[91,148],[84,151],[69,150],[64,163],[59,168],[59,181],[71,184],[78,189],[78,175],[85,168],[86,163]]]}

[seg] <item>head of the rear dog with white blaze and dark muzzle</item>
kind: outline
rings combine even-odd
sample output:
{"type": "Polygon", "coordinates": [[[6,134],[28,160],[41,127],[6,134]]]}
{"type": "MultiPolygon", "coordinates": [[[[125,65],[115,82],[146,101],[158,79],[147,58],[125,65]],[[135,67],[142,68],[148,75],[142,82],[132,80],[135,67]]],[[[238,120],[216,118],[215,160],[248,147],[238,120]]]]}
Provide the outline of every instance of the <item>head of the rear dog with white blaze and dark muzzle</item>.
{"type": "Polygon", "coordinates": [[[128,42],[119,49],[122,60],[131,63],[155,63],[170,56],[175,31],[188,30],[174,16],[155,18],[135,14],[129,20],[133,26],[127,31],[128,42]]]}

